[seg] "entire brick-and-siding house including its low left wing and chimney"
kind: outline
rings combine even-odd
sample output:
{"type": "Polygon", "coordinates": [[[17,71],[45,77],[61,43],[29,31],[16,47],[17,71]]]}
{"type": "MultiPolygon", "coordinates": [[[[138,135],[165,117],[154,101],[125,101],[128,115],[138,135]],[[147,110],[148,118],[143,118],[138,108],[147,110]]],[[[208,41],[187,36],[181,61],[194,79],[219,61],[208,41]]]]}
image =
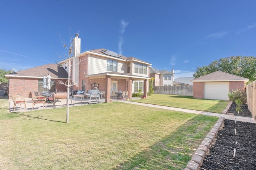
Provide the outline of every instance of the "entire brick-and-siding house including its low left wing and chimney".
{"type": "MultiPolygon", "coordinates": [[[[71,62],[71,80],[76,82],[70,90],[98,89],[105,93],[105,101],[110,102],[112,91],[127,91],[128,98],[132,93],[141,89],[144,97],[147,97],[150,63],[125,57],[106,49],[94,49],[80,53],[81,39],[76,34],[74,38],[73,57],[71,62]]],[[[68,79],[68,67],[66,61],[58,64],[46,64],[15,74],[6,74],[9,79],[9,94],[16,96],[31,97],[32,91],[43,91],[43,76],[50,74],[52,81],[68,79]]],[[[50,91],[67,91],[67,87],[58,84],[58,81],[51,83],[50,91]]]]}

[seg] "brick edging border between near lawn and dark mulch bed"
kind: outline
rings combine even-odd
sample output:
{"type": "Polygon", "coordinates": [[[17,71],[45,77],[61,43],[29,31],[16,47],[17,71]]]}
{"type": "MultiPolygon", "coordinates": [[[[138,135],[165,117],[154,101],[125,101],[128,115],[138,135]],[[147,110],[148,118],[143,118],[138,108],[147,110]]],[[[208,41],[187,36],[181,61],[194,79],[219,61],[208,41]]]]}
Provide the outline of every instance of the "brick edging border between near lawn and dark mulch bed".
{"type": "MultiPolygon", "coordinates": [[[[230,103],[232,104],[232,102],[230,103]]],[[[199,145],[198,149],[196,150],[184,170],[199,170],[200,166],[202,166],[203,164],[206,153],[208,152],[210,145],[212,145],[212,143],[215,141],[215,137],[217,136],[218,131],[220,130],[220,127],[224,120],[224,117],[220,117],[218,119],[208,135],[206,135],[202,143],[199,145]]]]}

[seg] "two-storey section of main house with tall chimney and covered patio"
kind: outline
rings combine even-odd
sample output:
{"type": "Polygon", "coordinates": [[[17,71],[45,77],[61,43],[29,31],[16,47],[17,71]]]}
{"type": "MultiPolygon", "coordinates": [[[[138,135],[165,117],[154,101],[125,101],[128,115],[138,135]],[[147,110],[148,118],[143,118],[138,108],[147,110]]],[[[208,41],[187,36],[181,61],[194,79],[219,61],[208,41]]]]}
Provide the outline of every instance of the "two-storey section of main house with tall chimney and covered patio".
{"type": "MultiPolygon", "coordinates": [[[[141,89],[147,97],[149,68],[152,64],[125,57],[107,49],[94,49],[80,53],[81,39],[76,34],[74,38],[74,53],[72,57],[71,77],[77,83],[72,90],[98,89],[105,93],[105,101],[110,102],[112,91],[128,91],[128,98],[132,92],[141,89]]],[[[61,64],[66,70],[67,63],[61,64]]]]}

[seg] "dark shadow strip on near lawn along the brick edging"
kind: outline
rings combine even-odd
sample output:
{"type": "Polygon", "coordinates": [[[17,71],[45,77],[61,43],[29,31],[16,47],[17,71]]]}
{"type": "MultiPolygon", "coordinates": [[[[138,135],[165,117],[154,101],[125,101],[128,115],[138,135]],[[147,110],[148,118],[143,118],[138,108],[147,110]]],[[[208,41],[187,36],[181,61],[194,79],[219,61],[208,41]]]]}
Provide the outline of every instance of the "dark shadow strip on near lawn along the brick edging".
{"type": "MultiPolygon", "coordinates": [[[[197,115],[200,118],[202,115],[197,115]]],[[[198,139],[189,139],[188,132],[191,128],[197,129],[197,119],[192,117],[188,121],[184,121],[175,131],[166,135],[150,147],[142,150],[138,154],[130,157],[125,162],[116,165],[112,170],[122,169],[184,169],[190,161],[192,154],[196,150],[196,146],[200,145],[198,139]],[[175,139],[175,140],[174,140],[175,139]],[[183,140],[182,140],[183,139],[183,140]],[[191,147],[184,145],[189,143],[191,147]]],[[[202,131],[202,130],[200,130],[202,131]]]]}

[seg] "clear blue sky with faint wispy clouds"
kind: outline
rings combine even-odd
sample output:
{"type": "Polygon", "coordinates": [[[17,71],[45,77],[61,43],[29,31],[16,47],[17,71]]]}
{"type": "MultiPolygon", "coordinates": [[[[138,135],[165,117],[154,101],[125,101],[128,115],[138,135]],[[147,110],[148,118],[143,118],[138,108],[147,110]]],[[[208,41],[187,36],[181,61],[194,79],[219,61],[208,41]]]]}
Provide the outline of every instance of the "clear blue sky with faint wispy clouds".
{"type": "Polygon", "coordinates": [[[80,34],[81,52],[105,48],[174,69],[229,56],[256,57],[255,0],[1,0],[0,68],[60,61],[59,42],[80,34]]]}

